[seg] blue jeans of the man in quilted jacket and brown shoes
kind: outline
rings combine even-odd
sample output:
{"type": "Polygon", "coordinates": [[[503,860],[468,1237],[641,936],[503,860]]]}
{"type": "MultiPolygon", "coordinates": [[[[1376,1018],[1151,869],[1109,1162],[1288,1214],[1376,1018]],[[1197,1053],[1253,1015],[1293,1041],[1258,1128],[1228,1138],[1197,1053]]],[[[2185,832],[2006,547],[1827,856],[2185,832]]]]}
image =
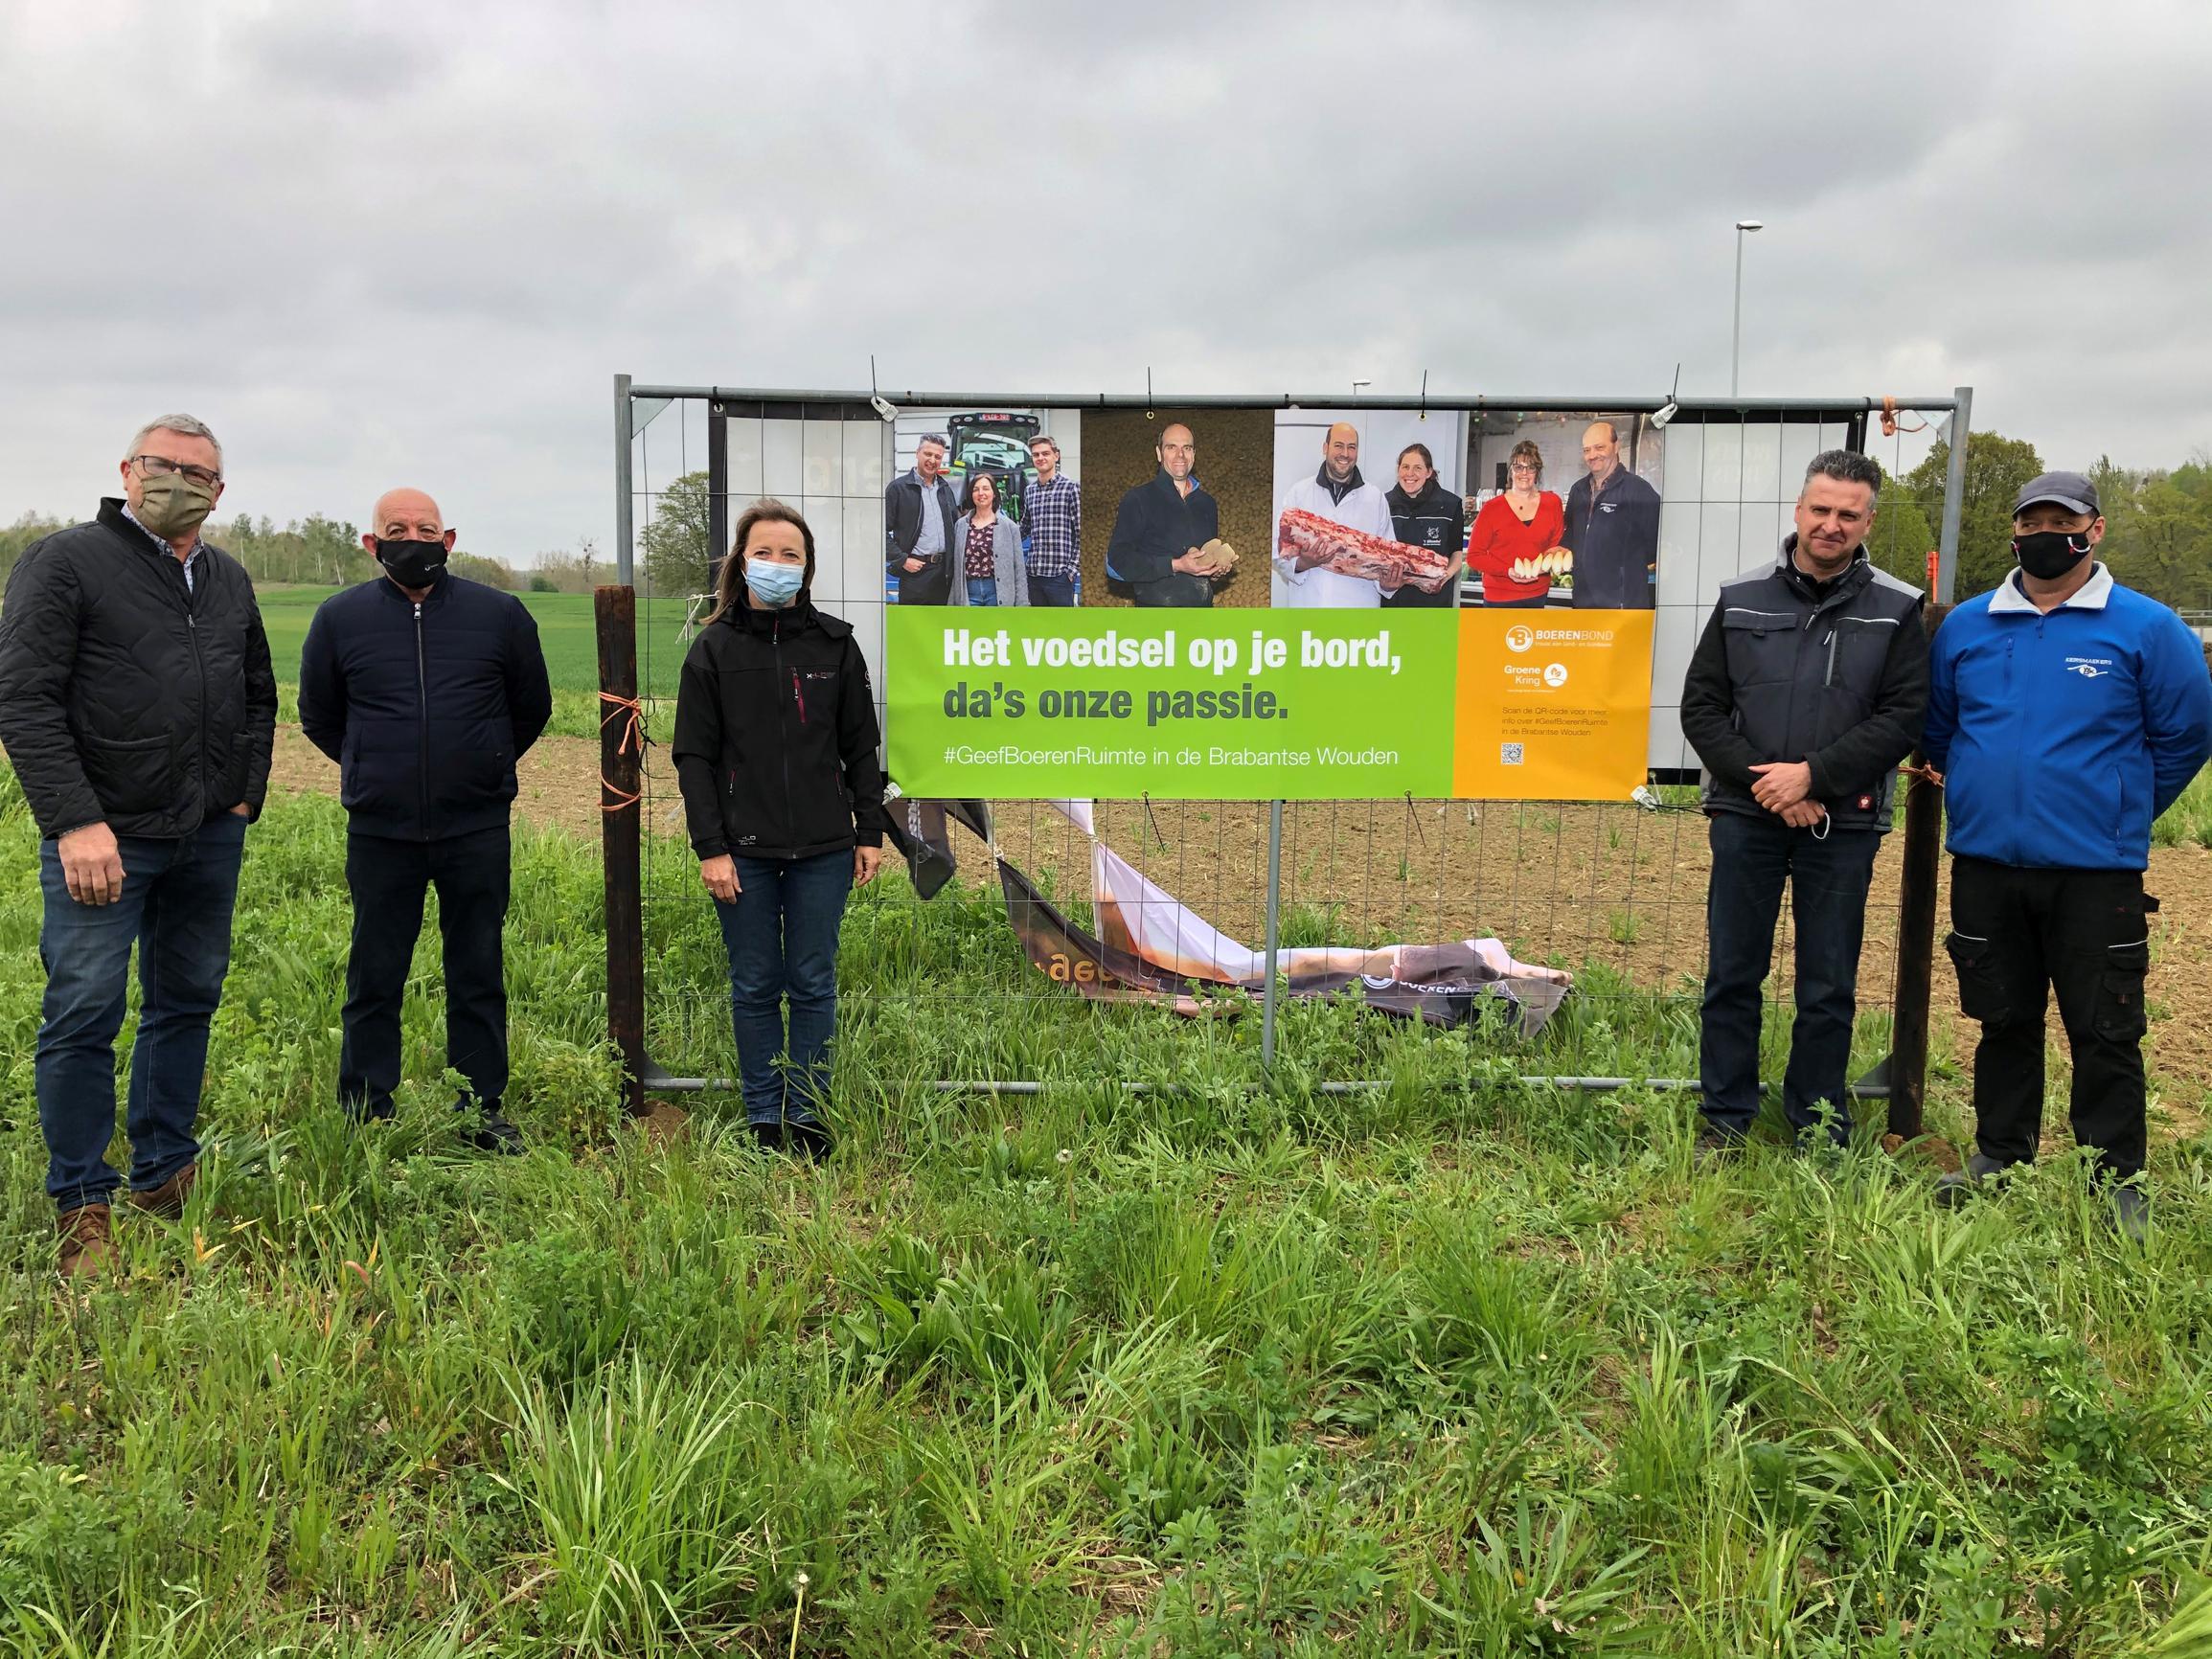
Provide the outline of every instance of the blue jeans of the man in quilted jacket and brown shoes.
{"type": "Polygon", "coordinates": [[[122,1183],[106,1155],[115,1139],[115,1033],[124,1024],[133,945],[139,1029],[124,1110],[131,1188],[157,1188],[199,1157],[192,1124],[208,1071],[208,1020],[230,969],[246,818],[223,812],[175,841],[117,836],[117,849],[124,891],[113,905],[80,905],[62,880],[55,843],[38,849],[46,1000],[33,1077],[46,1133],[46,1194],[62,1210],[108,1203],[122,1183]]]}

